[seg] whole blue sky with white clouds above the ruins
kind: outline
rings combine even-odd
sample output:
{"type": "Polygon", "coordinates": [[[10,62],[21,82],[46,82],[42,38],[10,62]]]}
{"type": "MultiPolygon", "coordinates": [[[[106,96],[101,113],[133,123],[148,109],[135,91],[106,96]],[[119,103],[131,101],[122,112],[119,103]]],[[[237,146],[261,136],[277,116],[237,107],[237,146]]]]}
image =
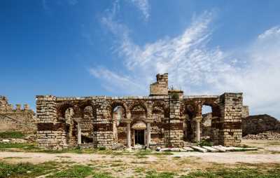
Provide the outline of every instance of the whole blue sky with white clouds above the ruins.
{"type": "Polygon", "coordinates": [[[148,95],[155,74],[185,95],[243,92],[280,118],[280,1],[0,1],[0,95],[148,95]],[[278,82],[277,82],[278,81],[278,82]]]}

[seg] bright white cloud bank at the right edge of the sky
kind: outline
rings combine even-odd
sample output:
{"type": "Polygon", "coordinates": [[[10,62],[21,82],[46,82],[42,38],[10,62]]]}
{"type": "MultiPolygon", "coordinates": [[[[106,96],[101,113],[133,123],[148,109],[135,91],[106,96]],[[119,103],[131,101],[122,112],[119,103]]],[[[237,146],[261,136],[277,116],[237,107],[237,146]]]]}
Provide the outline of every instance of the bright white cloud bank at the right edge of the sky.
{"type": "Polygon", "coordinates": [[[269,113],[280,118],[280,28],[272,27],[248,46],[246,66],[223,75],[221,90],[244,92],[253,114],[269,113]]]}

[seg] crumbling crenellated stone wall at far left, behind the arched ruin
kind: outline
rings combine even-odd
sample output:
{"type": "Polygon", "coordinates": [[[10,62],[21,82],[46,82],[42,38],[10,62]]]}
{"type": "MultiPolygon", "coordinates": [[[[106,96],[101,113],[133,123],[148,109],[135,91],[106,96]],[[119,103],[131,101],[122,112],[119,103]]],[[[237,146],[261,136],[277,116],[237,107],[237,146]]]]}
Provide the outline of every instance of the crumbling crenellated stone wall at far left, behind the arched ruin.
{"type": "Polygon", "coordinates": [[[0,96],[0,131],[36,131],[36,117],[28,104],[22,106],[8,104],[7,97],[0,96]]]}

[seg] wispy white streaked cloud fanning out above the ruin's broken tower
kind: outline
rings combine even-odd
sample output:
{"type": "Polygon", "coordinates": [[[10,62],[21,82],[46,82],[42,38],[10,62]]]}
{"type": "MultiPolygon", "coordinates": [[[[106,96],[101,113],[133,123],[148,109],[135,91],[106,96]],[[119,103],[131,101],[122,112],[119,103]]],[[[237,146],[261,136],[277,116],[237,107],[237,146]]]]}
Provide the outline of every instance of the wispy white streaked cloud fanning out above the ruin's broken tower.
{"type": "MultiPolygon", "coordinates": [[[[173,39],[165,38],[138,46],[130,39],[129,29],[113,19],[102,18],[102,23],[116,36],[116,53],[123,58],[130,80],[148,87],[155,74],[169,72],[171,84],[186,90],[217,82],[217,74],[231,70],[223,61],[224,54],[218,48],[209,49],[207,43],[211,30],[211,12],[205,12],[193,20],[183,34],[173,39]]],[[[113,71],[112,71],[113,72],[113,71]]],[[[130,86],[132,90],[133,85],[130,86]]],[[[142,90],[139,90],[137,94],[142,90]]],[[[205,92],[197,88],[197,93],[205,92]]]]}

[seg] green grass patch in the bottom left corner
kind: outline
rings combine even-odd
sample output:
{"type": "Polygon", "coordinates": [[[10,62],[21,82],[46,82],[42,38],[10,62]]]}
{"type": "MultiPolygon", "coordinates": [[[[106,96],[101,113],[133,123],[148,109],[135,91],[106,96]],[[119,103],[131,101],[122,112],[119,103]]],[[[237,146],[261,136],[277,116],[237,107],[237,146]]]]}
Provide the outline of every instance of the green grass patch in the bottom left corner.
{"type": "Polygon", "coordinates": [[[42,174],[48,174],[56,166],[52,162],[39,165],[31,163],[10,164],[0,162],[0,178],[3,177],[37,177],[42,174]]]}

